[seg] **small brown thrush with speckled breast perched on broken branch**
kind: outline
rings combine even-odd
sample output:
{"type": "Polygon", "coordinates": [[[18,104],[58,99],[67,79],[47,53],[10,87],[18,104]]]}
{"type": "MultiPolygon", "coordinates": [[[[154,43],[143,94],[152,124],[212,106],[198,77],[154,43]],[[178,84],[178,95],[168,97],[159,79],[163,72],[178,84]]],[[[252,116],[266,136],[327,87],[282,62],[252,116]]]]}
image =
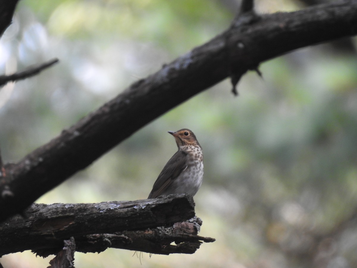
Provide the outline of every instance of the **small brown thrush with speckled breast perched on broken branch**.
{"type": "Polygon", "coordinates": [[[169,131],[175,137],[178,151],[157,177],[148,198],[160,195],[195,195],[203,179],[203,152],[195,134],[189,129],[169,131]]]}

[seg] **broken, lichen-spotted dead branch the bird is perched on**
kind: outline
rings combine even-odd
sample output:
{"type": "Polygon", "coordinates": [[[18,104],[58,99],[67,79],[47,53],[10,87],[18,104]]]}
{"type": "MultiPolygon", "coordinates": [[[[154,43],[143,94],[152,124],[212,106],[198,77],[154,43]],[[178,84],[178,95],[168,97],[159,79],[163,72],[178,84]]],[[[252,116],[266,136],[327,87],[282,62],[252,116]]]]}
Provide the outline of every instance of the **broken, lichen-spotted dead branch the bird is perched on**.
{"type": "Polygon", "coordinates": [[[194,253],[200,241],[214,241],[197,235],[201,224],[188,194],[98,204],[32,204],[23,217],[0,225],[0,256],[29,249],[41,256],[56,254],[70,237],[81,252],[113,247],[194,253]]]}

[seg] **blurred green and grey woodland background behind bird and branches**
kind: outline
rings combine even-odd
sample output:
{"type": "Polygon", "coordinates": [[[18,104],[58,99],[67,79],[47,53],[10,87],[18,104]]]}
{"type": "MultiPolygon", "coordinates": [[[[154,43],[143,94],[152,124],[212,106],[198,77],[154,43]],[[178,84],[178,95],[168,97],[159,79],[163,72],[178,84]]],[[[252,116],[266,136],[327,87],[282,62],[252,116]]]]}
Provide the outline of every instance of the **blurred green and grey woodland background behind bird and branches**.
{"type": "MultiPolygon", "coordinates": [[[[5,162],[27,153],[132,82],[225,30],[235,0],[22,0],[0,39],[0,73],[59,58],[0,90],[5,162]]],[[[260,13],[308,1],[256,1],[260,13]]],[[[357,39],[299,49],[260,66],[231,93],[229,80],[137,131],[39,203],[147,198],[176,152],[169,130],[190,128],[205,155],[195,195],[195,254],[107,249],[75,253],[75,267],[357,267],[357,39]],[[134,254],[134,255],[133,255],[134,254]]],[[[204,79],[204,78],[197,78],[204,79]]],[[[0,258],[47,267],[53,256],[0,258]]]]}

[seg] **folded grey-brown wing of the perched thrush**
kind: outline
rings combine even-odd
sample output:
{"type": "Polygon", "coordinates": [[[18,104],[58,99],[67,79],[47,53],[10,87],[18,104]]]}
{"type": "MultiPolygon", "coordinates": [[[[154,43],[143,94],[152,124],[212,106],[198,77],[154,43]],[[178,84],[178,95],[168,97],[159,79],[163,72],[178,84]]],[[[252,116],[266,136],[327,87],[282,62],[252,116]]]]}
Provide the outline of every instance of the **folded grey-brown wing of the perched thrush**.
{"type": "Polygon", "coordinates": [[[162,169],[159,177],[157,177],[154,186],[149,194],[148,198],[156,198],[169,187],[172,182],[181,174],[186,168],[187,153],[177,151],[166,163],[164,169],[162,169]]]}

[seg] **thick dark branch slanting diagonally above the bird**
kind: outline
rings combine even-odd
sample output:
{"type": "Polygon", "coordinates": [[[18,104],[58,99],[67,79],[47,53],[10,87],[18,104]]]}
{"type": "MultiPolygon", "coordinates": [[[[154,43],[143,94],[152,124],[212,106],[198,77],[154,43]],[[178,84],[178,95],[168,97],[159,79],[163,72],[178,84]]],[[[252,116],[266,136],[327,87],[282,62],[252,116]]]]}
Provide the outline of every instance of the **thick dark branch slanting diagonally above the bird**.
{"type": "Polygon", "coordinates": [[[132,84],[26,155],[10,169],[14,197],[0,200],[0,218],[26,208],[145,124],[227,76],[239,79],[265,60],[357,33],[356,0],[333,1],[253,20],[242,17],[216,38],[132,84]]]}

